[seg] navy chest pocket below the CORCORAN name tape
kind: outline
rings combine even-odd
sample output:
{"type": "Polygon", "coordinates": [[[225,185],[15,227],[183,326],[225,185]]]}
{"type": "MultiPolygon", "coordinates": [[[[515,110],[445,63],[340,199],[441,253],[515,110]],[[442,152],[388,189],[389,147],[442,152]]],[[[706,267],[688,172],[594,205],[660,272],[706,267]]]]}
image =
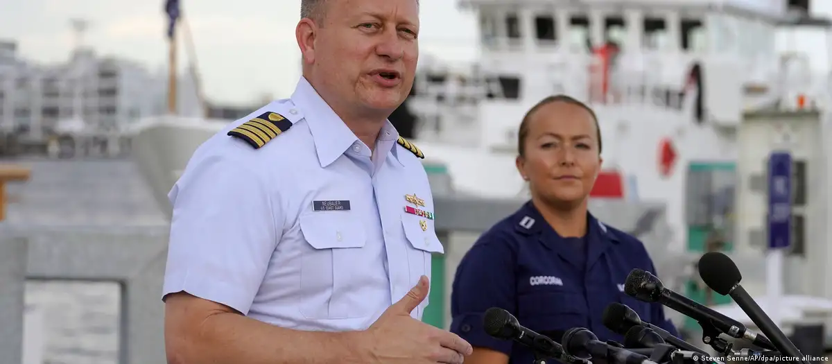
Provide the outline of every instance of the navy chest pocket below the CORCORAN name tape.
{"type": "Polygon", "coordinates": [[[518,321],[524,327],[561,341],[572,327],[588,327],[587,299],[572,291],[547,287],[518,297],[518,321]]]}

